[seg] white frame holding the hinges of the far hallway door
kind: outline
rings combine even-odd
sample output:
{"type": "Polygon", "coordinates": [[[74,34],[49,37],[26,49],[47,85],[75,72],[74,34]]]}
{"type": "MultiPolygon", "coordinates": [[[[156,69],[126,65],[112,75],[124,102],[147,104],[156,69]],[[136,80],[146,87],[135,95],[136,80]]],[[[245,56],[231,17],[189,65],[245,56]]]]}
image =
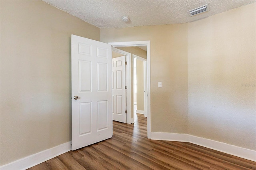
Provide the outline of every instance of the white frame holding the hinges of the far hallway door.
{"type": "Polygon", "coordinates": [[[128,53],[126,51],[123,51],[121,49],[112,47],[112,51],[121,53],[126,56],[126,85],[127,85],[127,93],[126,93],[126,109],[127,109],[127,115],[126,115],[126,123],[131,124],[134,123],[134,118],[132,119],[132,104],[131,104],[131,99],[132,99],[132,81],[130,79],[131,75],[131,63],[128,62],[131,60],[131,53],[128,53]]]}

